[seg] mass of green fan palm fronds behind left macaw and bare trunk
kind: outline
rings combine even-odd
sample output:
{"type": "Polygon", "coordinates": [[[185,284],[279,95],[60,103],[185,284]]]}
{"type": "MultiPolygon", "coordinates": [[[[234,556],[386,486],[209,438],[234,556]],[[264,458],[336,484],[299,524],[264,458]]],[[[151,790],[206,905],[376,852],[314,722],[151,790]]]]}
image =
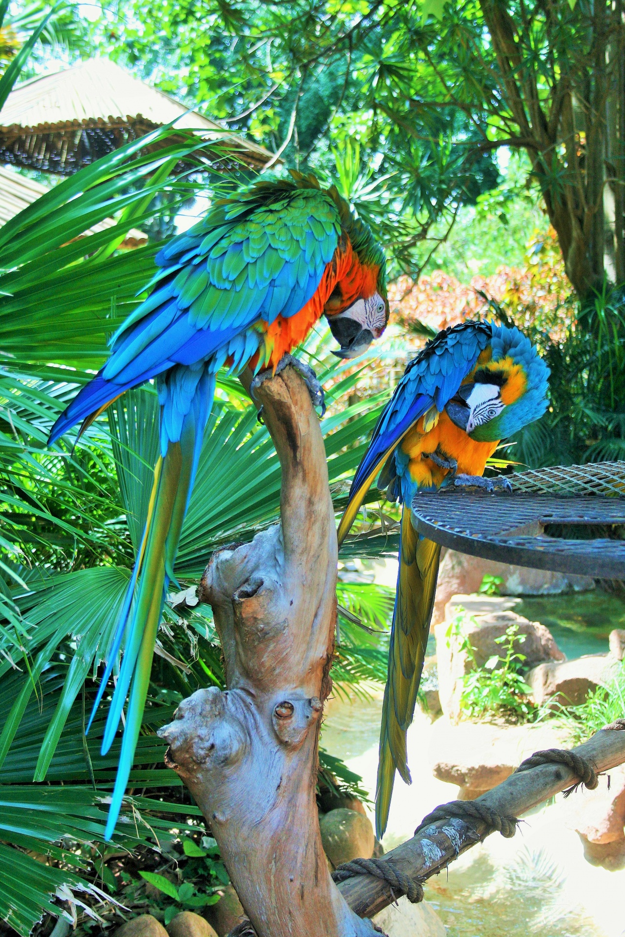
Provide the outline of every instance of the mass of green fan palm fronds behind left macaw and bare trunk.
{"type": "MultiPolygon", "coordinates": [[[[166,147],[164,156],[161,151],[146,157],[127,147],[56,186],[53,198],[41,200],[43,209],[36,203],[9,223],[11,236],[5,235],[8,225],[0,232],[0,280],[13,278],[11,295],[0,298],[0,332],[11,355],[0,375],[0,793],[7,805],[0,848],[8,856],[4,867],[20,866],[23,874],[19,893],[14,879],[0,874],[0,916],[24,937],[42,914],[60,912],[55,893],[69,900],[72,889],[82,889],[91,906],[102,898],[101,886],[139,908],[145,901],[141,870],[168,880],[168,869],[155,864],[151,850],[157,843],[175,850],[178,834],[172,830],[185,832],[189,824],[197,829],[199,811],[185,803],[179,779],[162,766],[165,745],[156,728],[171,721],[183,697],[224,686],[211,612],[197,602],[192,584],[217,546],[250,540],[279,515],[280,468],[271,439],[243,391],[223,379],[178,556],[182,591],[164,610],[130,776],[135,788],[151,796],[126,797],[113,838],[124,848],[131,840],[143,866],[116,868],[101,840],[119,740],[107,756],[99,754],[105,709],[88,736],[84,730],[147,509],[156,454],[154,391],[126,394],[74,450],[65,441],[48,450],[46,439],[77,385],[91,377],[86,368],[101,364],[108,336],[138,302],[135,293],[152,273],[153,246],[127,255],[114,249],[129,223],[124,210],[136,199],[144,205],[146,188],[151,197],[157,187],[155,171],[183,156],[194,158],[188,141],[166,147]],[[130,176],[134,190],[128,188],[130,176]],[[85,257],[83,244],[68,244],[77,231],[115,215],[116,206],[122,212],[116,228],[89,240],[94,252],[85,257]],[[28,251],[31,259],[25,261],[28,251]],[[61,781],[64,786],[55,786],[61,781]],[[24,849],[45,855],[48,865],[24,849]]],[[[158,185],[183,200],[191,184],[174,177],[158,185]]],[[[152,209],[141,210],[148,216],[152,209]]],[[[159,210],[156,205],[156,215],[159,210]]],[[[331,483],[343,485],[362,457],[386,395],[345,407],[360,371],[350,374],[351,364],[335,364],[327,334],[314,335],[304,354],[332,385],[322,429],[331,483]]],[[[388,590],[342,584],[339,599],[357,624],[344,622],[337,683],[383,680],[386,657],[378,634],[369,632],[383,630],[388,619],[388,590]]],[[[338,759],[321,753],[320,767],[340,790],[365,796],[360,779],[338,759]]],[[[198,848],[206,855],[186,852],[186,868],[203,863],[202,873],[198,866],[188,881],[183,876],[175,884],[175,900],[155,899],[158,915],[215,900],[224,882],[219,860],[205,845],[198,848]]]]}

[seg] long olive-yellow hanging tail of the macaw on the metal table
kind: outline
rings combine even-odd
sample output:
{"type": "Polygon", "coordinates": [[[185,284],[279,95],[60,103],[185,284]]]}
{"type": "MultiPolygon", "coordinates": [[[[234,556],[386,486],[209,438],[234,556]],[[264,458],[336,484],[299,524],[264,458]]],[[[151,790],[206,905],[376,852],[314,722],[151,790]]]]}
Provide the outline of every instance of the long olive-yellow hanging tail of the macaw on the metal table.
{"type": "Polygon", "coordinates": [[[389,817],[395,769],[410,783],[406,733],[414,715],[424,669],[425,647],[439,575],[439,543],[424,540],[412,527],[410,511],[401,517],[401,545],[389,671],[379,737],[376,829],[383,835],[389,817]]]}

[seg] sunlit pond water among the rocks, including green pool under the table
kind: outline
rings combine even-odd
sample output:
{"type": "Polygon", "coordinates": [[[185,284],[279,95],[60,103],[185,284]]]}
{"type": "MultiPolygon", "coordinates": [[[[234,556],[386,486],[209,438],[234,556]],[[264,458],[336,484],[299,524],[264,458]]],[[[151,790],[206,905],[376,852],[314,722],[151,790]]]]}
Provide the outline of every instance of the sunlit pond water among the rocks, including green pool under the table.
{"type": "MultiPolygon", "coordinates": [[[[605,653],[609,632],[625,628],[625,602],[598,590],[526,599],[515,611],[542,621],[569,659],[605,653]]],[[[336,698],[326,711],[321,744],[373,794],[381,693],[368,700],[336,698]]],[[[395,782],[382,840],[387,851],[409,839],[427,812],[457,796],[458,788],[434,778],[428,764],[436,725],[417,712],[409,729],[413,783],[395,782]]],[[[558,797],[531,811],[513,840],[490,836],[428,881],[425,898],[448,937],[625,937],[625,870],[609,872],[584,859],[574,832],[577,805],[575,797],[558,797]]]]}

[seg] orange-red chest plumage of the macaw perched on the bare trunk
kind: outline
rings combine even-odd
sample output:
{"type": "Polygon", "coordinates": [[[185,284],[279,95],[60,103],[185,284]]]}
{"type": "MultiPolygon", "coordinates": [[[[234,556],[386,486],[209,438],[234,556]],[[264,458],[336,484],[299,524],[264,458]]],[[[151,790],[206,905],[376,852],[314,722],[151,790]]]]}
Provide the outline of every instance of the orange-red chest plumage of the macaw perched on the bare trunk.
{"type": "Polygon", "coordinates": [[[299,312],[288,319],[278,316],[265,329],[265,367],[275,368],[283,355],[297,348],[323,315],[324,307],[338,285],[341,302],[333,312],[342,312],[360,296],[368,297],[376,290],[378,268],[365,267],[352,250],[350,240],[326,266],[315,294],[299,312]]]}

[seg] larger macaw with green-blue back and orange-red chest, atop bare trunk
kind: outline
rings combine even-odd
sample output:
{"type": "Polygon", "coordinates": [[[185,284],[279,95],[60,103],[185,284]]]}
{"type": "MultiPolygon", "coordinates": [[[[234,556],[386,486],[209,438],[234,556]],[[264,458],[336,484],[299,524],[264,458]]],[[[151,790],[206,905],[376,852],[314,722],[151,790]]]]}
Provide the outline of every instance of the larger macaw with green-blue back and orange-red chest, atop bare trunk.
{"type": "MultiPolygon", "coordinates": [[[[284,364],[305,365],[290,351],[322,315],[352,358],[384,331],[389,318],[385,263],[370,229],[350,213],[335,187],[314,176],[257,182],[216,206],[156,255],[148,298],[113,336],[112,354],[52,427],[51,442],[83,427],[131,387],[156,379],[160,457],[141,548],[108,654],[96,706],[126,633],[102,754],[117,732],[126,695],[126,727],[106,839],[112,835],[137,745],[161,611],[222,366],[249,366],[262,379],[284,364]],[[262,371],[262,374],[259,372],[262,371]]],[[[315,403],[322,394],[307,380],[315,403]]],[[[254,381],[252,381],[254,387],[254,381]]],[[[92,715],[93,719],[93,715],[92,715]]]]}

